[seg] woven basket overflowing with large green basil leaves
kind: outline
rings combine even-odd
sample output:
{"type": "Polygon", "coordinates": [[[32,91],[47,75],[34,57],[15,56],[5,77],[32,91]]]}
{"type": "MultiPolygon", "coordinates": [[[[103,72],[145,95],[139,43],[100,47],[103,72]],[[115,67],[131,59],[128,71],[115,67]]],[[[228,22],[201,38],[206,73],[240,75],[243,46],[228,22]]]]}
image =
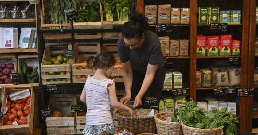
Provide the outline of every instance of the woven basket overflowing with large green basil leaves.
{"type": "Polygon", "coordinates": [[[223,126],[214,129],[199,129],[186,126],[182,122],[181,125],[184,131],[184,135],[221,135],[223,130],[223,126]]]}

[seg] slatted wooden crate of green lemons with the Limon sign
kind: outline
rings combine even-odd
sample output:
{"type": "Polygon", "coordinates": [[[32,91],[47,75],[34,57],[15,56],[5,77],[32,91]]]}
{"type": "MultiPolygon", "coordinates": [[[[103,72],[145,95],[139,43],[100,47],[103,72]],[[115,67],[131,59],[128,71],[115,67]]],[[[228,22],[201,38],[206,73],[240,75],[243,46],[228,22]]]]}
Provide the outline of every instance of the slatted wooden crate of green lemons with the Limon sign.
{"type": "Polygon", "coordinates": [[[51,60],[51,56],[64,55],[65,49],[72,50],[72,43],[48,43],[45,44],[45,51],[41,63],[41,78],[42,84],[57,84],[57,83],[71,83],[71,66],[72,59],[70,59],[70,64],[60,64],[60,65],[44,65],[46,61],[51,60]],[[61,48],[61,49],[60,49],[61,48]],[[46,75],[47,72],[66,72],[66,75],[46,75]],[[66,78],[66,81],[54,81],[47,82],[46,79],[55,78],[66,78]]]}

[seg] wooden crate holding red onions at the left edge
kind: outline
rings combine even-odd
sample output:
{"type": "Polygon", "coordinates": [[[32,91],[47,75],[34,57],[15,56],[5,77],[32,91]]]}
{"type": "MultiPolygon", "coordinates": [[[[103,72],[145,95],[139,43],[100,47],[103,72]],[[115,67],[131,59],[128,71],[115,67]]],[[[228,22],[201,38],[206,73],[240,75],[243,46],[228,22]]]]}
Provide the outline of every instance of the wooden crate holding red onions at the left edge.
{"type": "MultiPolygon", "coordinates": [[[[3,62],[1,61],[7,61],[10,63],[14,64],[14,70],[13,73],[17,73],[18,70],[18,60],[15,54],[10,54],[10,55],[0,55],[0,65],[3,64],[3,62]]],[[[3,86],[7,86],[7,85],[16,85],[17,83],[14,82],[13,84],[0,84],[0,88],[3,88],[3,86]]]]}

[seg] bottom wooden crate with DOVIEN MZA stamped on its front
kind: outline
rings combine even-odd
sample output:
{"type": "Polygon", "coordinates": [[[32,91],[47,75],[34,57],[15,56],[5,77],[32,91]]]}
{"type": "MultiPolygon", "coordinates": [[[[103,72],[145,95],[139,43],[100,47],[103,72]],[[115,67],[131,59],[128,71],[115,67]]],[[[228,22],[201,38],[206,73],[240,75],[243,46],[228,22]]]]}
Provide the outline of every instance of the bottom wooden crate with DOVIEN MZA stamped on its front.
{"type": "Polygon", "coordinates": [[[76,104],[75,94],[54,94],[50,95],[48,110],[58,108],[62,117],[47,117],[46,127],[48,135],[75,134],[75,117],[65,117],[71,112],[71,105],[76,104]]]}

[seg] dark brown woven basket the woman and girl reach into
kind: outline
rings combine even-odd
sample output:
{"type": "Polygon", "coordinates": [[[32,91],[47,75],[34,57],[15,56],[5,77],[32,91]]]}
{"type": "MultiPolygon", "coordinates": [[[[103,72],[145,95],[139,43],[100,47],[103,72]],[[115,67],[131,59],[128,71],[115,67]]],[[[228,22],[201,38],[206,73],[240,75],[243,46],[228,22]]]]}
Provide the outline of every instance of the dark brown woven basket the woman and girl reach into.
{"type": "MultiPolygon", "coordinates": [[[[127,129],[135,134],[156,133],[156,124],[153,117],[149,117],[151,109],[133,109],[133,117],[128,116],[127,111],[116,111],[118,129],[127,129]]],[[[154,110],[154,114],[158,111],[154,110]]]]}

